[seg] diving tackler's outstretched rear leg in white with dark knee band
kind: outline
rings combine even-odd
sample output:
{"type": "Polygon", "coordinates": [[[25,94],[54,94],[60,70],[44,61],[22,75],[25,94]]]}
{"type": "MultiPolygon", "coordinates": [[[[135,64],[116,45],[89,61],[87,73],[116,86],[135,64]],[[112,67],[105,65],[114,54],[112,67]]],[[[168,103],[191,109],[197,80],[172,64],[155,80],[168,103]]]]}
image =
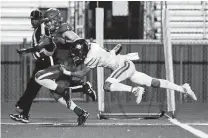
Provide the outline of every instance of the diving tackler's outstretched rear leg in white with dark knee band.
{"type": "Polygon", "coordinates": [[[134,72],[130,80],[134,83],[146,85],[149,87],[172,89],[184,94],[188,94],[194,100],[197,100],[194,92],[191,90],[188,84],[180,86],[168,80],[152,78],[147,74],[138,71],[134,72]]]}

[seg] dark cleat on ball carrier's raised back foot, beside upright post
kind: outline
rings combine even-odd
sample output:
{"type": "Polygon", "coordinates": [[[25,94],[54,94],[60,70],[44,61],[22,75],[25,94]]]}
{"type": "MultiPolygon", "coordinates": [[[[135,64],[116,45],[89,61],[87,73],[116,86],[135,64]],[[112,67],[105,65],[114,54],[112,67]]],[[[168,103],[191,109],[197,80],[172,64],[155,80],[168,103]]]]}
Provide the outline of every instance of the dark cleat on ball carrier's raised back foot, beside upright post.
{"type": "Polygon", "coordinates": [[[84,85],[84,93],[92,98],[92,101],[96,101],[97,95],[95,90],[93,90],[90,82],[86,82],[84,85]]]}

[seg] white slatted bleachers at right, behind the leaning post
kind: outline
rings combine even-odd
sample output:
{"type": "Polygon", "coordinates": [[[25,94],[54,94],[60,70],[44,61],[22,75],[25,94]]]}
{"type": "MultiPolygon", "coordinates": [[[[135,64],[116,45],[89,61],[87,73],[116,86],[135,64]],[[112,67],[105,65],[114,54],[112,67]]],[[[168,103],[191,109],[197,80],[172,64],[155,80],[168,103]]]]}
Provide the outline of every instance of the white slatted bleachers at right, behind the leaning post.
{"type": "MultiPolygon", "coordinates": [[[[208,39],[208,2],[167,1],[171,38],[174,40],[208,39]]],[[[156,39],[161,38],[161,2],[155,2],[154,29],[156,39]]]]}

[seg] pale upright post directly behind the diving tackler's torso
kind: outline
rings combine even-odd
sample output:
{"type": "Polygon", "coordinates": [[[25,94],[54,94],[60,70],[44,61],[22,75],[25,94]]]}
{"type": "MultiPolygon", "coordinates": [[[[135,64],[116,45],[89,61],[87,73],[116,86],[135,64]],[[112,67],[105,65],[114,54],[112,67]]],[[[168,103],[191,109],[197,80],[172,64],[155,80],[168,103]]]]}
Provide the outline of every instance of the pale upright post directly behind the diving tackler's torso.
{"type": "MultiPolygon", "coordinates": [[[[104,9],[96,8],[96,42],[103,47],[104,39],[104,9]]],[[[97,68],[98,111],[104,112],[104,69],[97,68]]]]}

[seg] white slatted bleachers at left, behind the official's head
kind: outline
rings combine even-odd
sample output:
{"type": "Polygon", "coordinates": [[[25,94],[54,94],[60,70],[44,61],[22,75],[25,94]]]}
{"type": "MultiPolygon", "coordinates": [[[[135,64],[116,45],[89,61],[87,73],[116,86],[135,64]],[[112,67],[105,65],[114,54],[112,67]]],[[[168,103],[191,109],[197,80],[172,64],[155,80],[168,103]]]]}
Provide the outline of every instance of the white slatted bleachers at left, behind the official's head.
{"type": "Polygon", "coordinates": [[[67,1],[2,1],[1,43],[22,43],[31,41],[30,12],[37,8],[68,8],[67,1]]]}

